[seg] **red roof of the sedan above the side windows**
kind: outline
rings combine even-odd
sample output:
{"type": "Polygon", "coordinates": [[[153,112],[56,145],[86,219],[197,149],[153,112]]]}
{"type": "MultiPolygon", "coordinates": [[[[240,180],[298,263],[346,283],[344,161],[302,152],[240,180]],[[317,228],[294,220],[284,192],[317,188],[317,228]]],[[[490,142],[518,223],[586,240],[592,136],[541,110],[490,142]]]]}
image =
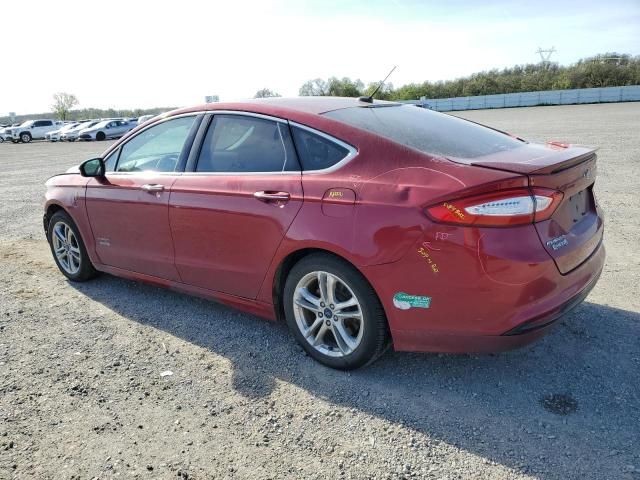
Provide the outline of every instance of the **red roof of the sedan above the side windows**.
{"type": "Polygon", "coordinates": [[[194,111],[208,110],[246,110],[267,112],[294,111],[307,114],[322,114],[333,110],[353,107],[371,107],[372,105],[400,105],[396,102],[374,100],[374,103],[361,101],[355,97],[271,97],[241,100],[237,102],[205,103],[194,107],[182,108],[169,112],[168,115],[177,115],[194,111]]]}

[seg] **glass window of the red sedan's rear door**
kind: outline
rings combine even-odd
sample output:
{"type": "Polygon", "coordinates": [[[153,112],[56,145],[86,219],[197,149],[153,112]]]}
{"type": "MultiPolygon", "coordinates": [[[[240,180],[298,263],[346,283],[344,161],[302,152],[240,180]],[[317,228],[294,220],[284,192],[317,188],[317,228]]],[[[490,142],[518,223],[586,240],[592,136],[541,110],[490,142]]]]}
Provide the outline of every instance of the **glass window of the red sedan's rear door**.
{"type": "Polygon", "coordinates": [[[243,115],[214,115],[197,172],[284,172],[300,170],[289,126],[243,115]]]}

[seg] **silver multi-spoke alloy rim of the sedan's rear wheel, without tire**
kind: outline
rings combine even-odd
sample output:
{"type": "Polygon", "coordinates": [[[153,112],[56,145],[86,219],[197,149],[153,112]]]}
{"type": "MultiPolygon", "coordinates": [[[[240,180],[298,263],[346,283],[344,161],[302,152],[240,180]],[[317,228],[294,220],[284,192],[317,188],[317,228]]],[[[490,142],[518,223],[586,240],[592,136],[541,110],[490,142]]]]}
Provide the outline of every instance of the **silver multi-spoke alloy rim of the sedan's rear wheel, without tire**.
{"type": "Polygon", "coordinates": [[[353,353],[362,341],[360,302],[338,276],[315,271],[295,288],[293,312],[300,333],[317,351],[331,357],[353,353]]]}

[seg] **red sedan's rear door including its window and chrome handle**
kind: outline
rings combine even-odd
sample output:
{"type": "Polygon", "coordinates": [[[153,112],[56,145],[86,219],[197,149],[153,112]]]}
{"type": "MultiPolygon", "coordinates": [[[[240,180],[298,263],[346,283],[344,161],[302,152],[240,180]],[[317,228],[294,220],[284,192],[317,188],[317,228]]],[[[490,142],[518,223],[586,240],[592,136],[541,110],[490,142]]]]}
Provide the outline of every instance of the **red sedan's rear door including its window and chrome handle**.
{"type": "Polygon", "coordinates": [[[255,298],[302,206],[286,121],[216,114],[169,203],[176,267],[185,283],[255,298]]]}

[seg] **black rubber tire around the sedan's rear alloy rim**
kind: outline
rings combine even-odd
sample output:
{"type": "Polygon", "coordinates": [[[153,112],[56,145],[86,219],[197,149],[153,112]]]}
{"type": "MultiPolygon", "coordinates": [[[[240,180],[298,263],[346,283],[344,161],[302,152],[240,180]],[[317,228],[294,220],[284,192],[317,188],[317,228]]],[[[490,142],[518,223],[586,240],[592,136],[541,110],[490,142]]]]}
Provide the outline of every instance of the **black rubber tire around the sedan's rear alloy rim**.
{"type": "MultiPolygon", "coordinates": [[[[353,370],[374,362],[389,345],[387,319],[378,296],[358,270],[338,257],[325,253],[314,253],[296,263],[287,276],[282,301],[291,333],[302,348],[323,365],[339,370],[353,370]],[[360,343],[349,354],[335,357],[322,353],[305,339],[298,326],[294,312],[296,287],[303,278],[312,272],[327,272],[334,275],[351,289],[359,303],[363,332],[360,343]]],[[[320,313],[318,316],[322,317],[320,313]]],[[[324,321],[327,322],[327,320],[324,321]]]]}

